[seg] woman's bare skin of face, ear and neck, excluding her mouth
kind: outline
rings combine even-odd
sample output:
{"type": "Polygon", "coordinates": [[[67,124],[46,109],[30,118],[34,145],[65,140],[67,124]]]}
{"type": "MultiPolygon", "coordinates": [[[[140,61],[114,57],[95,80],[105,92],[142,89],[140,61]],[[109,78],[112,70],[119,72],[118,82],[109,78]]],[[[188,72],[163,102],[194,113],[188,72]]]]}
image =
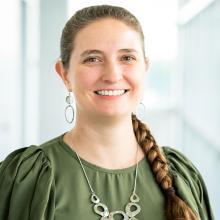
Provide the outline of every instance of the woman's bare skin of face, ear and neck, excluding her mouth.
{"type": "Polygon", "coordinates": [[[105,18],[78,32],[69,68],[58,61],[56,71],[76,100],[76,124],[64,141],[81,158],[107,169],[136,163],[131,113],[143,96],[147,69],[139,34],[123,22],[105,18]],[[101,89],[129,91],[106,99],[94,93],[101,89]]]}

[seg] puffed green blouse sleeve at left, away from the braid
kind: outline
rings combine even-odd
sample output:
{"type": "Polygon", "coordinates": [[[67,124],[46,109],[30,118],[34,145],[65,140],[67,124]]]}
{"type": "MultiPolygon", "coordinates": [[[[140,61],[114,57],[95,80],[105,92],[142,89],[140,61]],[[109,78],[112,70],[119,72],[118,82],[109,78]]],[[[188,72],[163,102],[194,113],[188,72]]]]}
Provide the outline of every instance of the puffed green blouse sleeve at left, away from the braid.
{"type": "Polygon", "coordinates": [[[53,172],[42,149],[9,154],[0,164],[0,219],[52,220],[54,210],[53,172]]]}

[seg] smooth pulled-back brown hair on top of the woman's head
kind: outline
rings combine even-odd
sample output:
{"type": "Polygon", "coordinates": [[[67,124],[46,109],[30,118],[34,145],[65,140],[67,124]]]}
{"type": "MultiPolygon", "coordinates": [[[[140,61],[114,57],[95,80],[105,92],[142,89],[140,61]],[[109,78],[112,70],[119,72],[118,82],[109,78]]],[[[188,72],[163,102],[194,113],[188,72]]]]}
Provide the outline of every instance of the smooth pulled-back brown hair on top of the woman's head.
{"type": "Polygon", "coordinates": [[[144,53],[144,34],[137,18],[124,8],[110,6],[110,5],[97,5],[83,8],[77,11],[66,23],[60,42],[61,61],[64,68],[69,67],[69,60],[71,53],[74,49],[74,40],[77,33],[87,25],[103,18],[114,18],[124,22],[132,27],[137,33],[140,34],[142,48],[144,53]]]}

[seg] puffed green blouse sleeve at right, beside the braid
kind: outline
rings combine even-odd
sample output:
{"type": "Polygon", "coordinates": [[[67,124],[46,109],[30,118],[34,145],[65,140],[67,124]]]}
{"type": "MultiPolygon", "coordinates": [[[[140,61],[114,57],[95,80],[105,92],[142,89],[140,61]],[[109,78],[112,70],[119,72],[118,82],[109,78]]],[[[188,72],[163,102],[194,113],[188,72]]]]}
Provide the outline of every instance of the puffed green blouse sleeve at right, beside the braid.
{"type": "Polygon", "coordinates": [[[201,220],[214,220],[208,192],[203,178],[192,162],[170,147],[163,147],[168,160],[177,194],[200,216],[201,220]]]}

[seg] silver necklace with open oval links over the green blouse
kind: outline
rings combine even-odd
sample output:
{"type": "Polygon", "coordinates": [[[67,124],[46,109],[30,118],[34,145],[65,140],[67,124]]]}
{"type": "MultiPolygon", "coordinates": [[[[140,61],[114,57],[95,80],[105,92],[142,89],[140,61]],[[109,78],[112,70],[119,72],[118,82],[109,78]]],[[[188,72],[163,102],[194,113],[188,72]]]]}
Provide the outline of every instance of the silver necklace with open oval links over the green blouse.
{"type": "MultiPolygon", "coordinates": [[[[71,140],[72,141],[72,140],[71,140]]],[[[75,151],[76,153],[76,151],[75,151]]],[[[93,210],[96,214],[100,215],[100,220],[114,220],[115,215],[121,215],[123,216],[123,220],[137,220],[135,216],[140,213],[141,207],[139,204],[137,204],[140,201],[140,198],[136,194],[136,182],[137,182],[137,174],[138,174],[138,145],[137,145],[137,153],[136,153],[136,169],[135,169],[135,179],[134,179],[134,188],[130,196],[130,201],[125,206],[125,211],[112,211],[110,212],[108,207],[101,202],[95,191],[93,190],[89,178],[86,174],[85,168],[82,164],[81,159],[79,158],[79,155],[76,153],[76,156],[79,160],[79,163],[82,167],[83,173],[85,175],[85,178],[87,180],[87,183],[89,185],[90,191],[91,191],[91,202],[94,204],[93,210]],[[133,207],[133,208],[132,208],[133,207]],[[101,210],[101,211],[100,211],[101,210]]]]}

